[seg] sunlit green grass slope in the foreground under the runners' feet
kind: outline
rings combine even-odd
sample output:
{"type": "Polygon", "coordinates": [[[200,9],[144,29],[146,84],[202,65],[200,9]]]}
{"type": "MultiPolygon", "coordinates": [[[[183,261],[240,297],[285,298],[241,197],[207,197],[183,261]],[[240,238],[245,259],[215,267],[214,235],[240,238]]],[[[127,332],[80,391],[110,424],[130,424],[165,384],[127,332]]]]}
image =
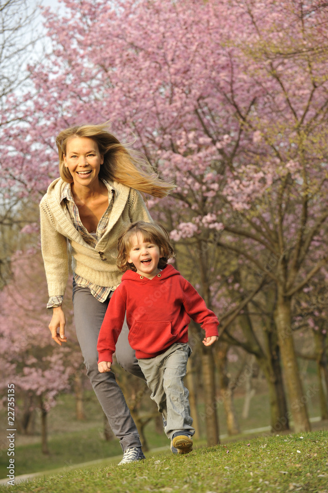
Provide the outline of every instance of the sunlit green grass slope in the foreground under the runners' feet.
{"type": "MultiPolygon", "coordinates": [[[[162,454],[125,466],[84,468],[10,487],[38,493],[328,493],[328,433],[258,437],[162,454]],[[301,438],[301,436],[303,438],[301,438]]],[[[0,486],[0,492],[7,492],[0,486]]]]}

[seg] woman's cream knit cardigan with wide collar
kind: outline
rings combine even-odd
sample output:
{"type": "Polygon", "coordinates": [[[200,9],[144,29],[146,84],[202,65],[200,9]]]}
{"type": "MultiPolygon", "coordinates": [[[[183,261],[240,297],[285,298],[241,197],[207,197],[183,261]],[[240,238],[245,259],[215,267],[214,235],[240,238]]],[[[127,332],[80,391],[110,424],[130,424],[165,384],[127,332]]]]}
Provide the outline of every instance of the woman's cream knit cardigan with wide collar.
{"type": "Polygon", "coordinates": [[[113,207],[107,229],[95,247],[84,242],[60,203],[66,182],[50,183],[40,202],[41,250],[49,296],[63,296],[68,281],[68,249],[72,269],[78,276],[99,286],[117,287],[122,273],[116,267],[117,239],[122,229],[134,221],[151,222],[146,204],[137,190],[116,181],[113,207]]]}

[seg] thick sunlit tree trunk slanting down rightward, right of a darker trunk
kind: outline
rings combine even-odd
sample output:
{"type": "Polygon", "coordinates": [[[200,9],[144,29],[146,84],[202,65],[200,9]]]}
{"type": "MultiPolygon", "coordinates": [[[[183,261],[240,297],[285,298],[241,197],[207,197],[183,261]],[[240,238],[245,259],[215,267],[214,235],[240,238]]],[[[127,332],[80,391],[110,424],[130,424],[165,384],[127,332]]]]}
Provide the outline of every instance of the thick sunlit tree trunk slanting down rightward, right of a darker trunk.
{"type": "Polygon", "coordinates": [[[291,327],[291,299],[284,296],[278,288],[275,322],[278,331],[278,342],[282,356],[285,382],[288,388],[291,415],[294,431],[310,431],[310,422],[306,408],[306,396],[302,389],[297,360],[294,350],[291,327]]]}

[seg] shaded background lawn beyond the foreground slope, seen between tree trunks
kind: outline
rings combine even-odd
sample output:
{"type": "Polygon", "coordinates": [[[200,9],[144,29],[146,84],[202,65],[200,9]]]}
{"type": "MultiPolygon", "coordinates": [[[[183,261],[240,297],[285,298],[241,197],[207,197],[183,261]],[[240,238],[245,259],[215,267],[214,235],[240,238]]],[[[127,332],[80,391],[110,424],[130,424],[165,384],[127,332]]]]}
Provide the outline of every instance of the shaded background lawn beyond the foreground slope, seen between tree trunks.
{"type": "MultiPolygon", "coordinates": [[[[306,387],[306,386],[305,386],[306,387]]],[[[49,450],[50,455],[41,453],[40,443],[20,445],[19,437],[15,443],[16,475],[47,471],[82,462],[99,460],[102,458],[121,455],[118,440],[106,442],[103,439],[103,412],[92,390],[85,393],[85,413],[87,420],[78,422],[75,419],[74,397],[70,394],[61,395],[55,408],[48,416],[49,450]],[[65,431],[64,430],[68,430],[65,431]]],[[[258,428],[269,425],[269,399],[266,393],[258,392],[252,399],[250,416],[241,418],[244,397],[236,395],[236,414],[241,430],[258,428]]],[[[310,416],[318,416],[317,394],[308,402],[310,416]]],[[[200,411],[202,407],[200,406],[200,411]]],[[[226,422],[223,405],[218,406],[220,434],[226,434],[226,422]]],[[[205,421],[200,420],[200,432],[205,435],[205,421]]],[[[36,423],[36,430],[39,424],[36,423]]],[[[17,434],[18,435],[18,434],[17,434]]],[[[36,438],[36,437],[34,437],[36,438]]],[[[40,437],[38,437],[40,439],[40,437]]],[[[154,430],[154,423],[146,426],[146,438],[150,449],[168,445],[164,433],[154,430]]],[[[238,435],[233,440],[244,439],[238,435]]],[[[24,437],[24,440],[28,437],[24,437]]],[[[199,444],[205,442],[199,441],[199,444]]],[[[4,440],[3,450],[0,453],[0,478],[7,474],[8,457],[6,455],[7,441],[4,440]]]]}

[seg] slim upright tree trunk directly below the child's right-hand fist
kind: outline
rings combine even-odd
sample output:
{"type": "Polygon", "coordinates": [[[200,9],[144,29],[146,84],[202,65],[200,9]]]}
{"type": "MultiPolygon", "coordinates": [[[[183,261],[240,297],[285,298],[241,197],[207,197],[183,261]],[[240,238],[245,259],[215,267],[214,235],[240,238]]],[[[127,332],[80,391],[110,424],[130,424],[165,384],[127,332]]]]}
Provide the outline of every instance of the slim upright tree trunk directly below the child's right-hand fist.
{"type": "Polygon", "coordinates": [[[207,445],[211,447],[219,443],[219,422],[217,416],[217,399],[215,385],[215,365],[212,347],[203,347],[202,360],[202,382],[205,401],[205,424],[207,445]]]}

